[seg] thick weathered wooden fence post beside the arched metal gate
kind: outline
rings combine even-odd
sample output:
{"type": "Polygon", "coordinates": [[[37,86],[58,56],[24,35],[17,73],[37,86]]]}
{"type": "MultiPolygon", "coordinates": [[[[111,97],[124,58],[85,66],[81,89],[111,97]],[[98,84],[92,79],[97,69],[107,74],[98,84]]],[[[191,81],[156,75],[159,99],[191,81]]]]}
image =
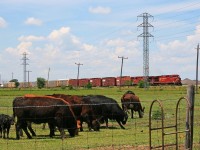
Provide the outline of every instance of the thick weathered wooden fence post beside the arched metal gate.
{"type": "Polygon", "coordinates": [[[189,115],[186,118],[186,132],[185,148],[192,150],[193,147],[193,125],[194,125],[194,85],[189,85],[187,88],[187,98],[190,102],[189,115]]]}

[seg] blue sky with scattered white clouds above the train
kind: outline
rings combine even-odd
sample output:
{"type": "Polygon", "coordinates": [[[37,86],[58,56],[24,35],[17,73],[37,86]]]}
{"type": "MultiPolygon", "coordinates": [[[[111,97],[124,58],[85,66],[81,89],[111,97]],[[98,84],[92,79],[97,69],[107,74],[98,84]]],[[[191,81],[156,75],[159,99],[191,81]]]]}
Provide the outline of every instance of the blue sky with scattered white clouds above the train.
{"type": "Polygon", "coordinates": [[[142,18],[149,13],[149,75],[195,79],[200,39],[197,0],[1,0],[0,74],[23,81],[23,53],[30,81],[143,75],[142,18]],[[12,76],[13,75],[13,76],[12,76]]]}

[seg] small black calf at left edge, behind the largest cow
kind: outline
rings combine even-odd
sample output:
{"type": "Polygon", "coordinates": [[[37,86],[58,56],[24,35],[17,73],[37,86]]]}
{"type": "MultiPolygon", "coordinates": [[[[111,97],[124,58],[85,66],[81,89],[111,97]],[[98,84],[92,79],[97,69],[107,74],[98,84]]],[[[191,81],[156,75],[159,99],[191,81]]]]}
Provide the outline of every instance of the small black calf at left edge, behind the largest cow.
{"type": "Polygon", "coordinates": [[[7,138],[9,138],[9,131],[11,125],[14,125],[14,118],[10,117],[9,115],[0,114],[0,137],[5,139],[5,135],[7,134],[7,138]]]}

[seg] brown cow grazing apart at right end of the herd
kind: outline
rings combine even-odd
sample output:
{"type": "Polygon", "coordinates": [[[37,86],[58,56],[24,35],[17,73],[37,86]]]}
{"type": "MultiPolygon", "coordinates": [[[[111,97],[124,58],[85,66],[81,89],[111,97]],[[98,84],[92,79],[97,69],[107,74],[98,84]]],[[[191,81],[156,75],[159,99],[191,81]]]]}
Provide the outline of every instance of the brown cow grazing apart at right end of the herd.
{"type": "Polygon", "coordinates": [[[127,91],[121,98],[122,109],[128,111],[131,109],[131,118],[133,118],[133,111],[137,111],[140,118],[143,118],[144,109],[142,108],[140,99],[132,91],[127,91]]]}

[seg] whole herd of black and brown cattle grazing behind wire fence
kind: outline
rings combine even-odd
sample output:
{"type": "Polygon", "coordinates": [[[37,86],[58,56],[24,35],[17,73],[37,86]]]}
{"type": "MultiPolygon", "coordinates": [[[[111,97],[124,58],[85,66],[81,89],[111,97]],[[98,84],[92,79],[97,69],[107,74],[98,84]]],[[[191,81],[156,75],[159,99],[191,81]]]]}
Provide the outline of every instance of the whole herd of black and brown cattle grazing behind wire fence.
{"type": "Polygon", "coordinates": [[[48,123],[50,137],[55,136],[58,128],[61,138],[65,138],[64,130],[74,137],[78,130],[83,131],[82,123],[86,122],[88,129],[99,131],[100,125],[108,120],[115,120],[122,129],[128,119],[128,109],[131,109],[131,118],[134,111],[139,117],[144,114],[139,98],[132,92],[127,91],[121,98],[122,107],[116,100],[103,95],[64,95],[53,94],[45,96],[25,95],[13,100],[13,116],[0,115],[0,136],[9,138],[10,126],[15,122],[16,138],[20,139],[22,131],[29,139],[36,136],[31,124],[48,123]],[[29,131],[31,134],[29,133],[29,131]],[[3,133],[3,135],[2,135],[3,133]]]}

